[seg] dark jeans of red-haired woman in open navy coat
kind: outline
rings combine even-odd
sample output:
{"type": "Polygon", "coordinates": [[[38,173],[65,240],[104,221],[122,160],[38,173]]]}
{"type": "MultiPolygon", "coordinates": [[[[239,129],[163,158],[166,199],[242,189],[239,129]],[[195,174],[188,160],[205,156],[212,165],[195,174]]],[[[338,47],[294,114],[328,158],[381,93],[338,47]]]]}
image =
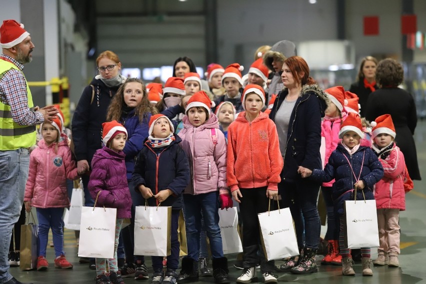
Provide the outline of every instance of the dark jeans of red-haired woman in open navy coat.
{"type": "Polygon", "coordinates": [[[278,183],[278,192],[282,198],[282,207],[290,208],[298,246],[300,248],[303,245],[308,248],[318,248],[321,230],[321,222],[316,205],[319,192],[318,182],[301,178],[295,182],[281,181],[278,183]]]}

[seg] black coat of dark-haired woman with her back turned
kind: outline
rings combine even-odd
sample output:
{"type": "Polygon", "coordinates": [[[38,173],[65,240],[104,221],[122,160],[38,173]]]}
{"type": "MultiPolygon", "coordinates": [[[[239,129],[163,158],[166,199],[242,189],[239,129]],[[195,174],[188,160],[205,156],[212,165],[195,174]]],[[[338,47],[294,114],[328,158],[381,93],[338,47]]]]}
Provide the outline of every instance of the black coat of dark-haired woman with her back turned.
{"type": "Polygon", "coordinates": [[[411,179],[420,180],[414,134],[417,112],[414,99],[409,92],[398,87],[381,88],[368,97],[365,118],[374,120],[382,114],[390,114],[395,126],[395,141],[405,157],[405,164],[411,179]]]}

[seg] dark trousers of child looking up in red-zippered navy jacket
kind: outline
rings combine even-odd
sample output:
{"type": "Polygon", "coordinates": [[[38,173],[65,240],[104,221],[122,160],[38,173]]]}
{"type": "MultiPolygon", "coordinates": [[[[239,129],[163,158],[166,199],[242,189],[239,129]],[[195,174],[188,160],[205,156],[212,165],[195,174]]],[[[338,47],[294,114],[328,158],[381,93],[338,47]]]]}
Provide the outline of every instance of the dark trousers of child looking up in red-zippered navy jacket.
{"type": "MultiPolygon", "coordinates": [[[[178,210],[171,210],[171,232],[170,232],[170,255],[167,255],[167,268],[176,270],[179,265],[179,252],[180,244],[179,239],[177,238],[177,226],[179,223],[179,213],[178,210]]],[[[160,271],[162,269],[162,256],[151,256],[152,259],[152,269],[154,271],[160,271]]]]}

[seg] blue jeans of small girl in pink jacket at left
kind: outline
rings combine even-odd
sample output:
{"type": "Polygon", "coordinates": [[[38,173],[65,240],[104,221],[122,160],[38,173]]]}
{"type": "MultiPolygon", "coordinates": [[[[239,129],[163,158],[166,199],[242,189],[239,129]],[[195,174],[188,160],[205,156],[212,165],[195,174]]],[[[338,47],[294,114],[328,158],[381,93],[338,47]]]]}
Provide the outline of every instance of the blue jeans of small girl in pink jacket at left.
{"type": "Polygon", "coordinates": [[[37,256],[46,256],[49,229],[52,229],[54,256],[65,255],[63,251],[63,208],[35,208],[38,218],[37,256]]]}

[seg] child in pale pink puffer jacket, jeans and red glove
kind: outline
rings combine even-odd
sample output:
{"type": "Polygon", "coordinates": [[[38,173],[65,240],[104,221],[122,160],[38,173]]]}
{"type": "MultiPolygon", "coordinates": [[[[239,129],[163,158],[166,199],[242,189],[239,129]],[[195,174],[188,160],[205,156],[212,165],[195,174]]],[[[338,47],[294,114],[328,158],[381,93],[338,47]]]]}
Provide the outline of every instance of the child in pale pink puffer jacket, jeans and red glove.
{"type": "Polygon", "coordinates": [[[182,258],[177,282],[198,279],[202,211],[210,240],[214,281],[229,283],[217,210],[219,202],[221,209],[232,207],[232,199],[226,187],[226,140],[218,129],[217,116],[210,110],[212,104],[204,91],[194,93],[188,100],[183,116],[184,128],[179,132],[192,176],[183,192],[188,255],[182,258]]]}

